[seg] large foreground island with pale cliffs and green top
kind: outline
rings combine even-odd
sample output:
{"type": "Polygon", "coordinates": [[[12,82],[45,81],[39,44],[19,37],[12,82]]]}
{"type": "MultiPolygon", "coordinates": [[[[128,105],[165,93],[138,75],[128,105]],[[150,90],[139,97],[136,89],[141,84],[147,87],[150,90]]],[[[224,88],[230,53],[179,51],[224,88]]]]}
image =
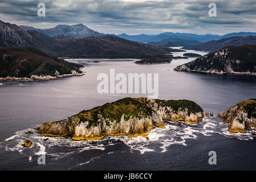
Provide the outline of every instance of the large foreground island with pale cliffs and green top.
{"type": "Polygon", "coordinates": [[[70,118],[48,122],[37,127],[47,137],[64,137],[73,140],[101,139],[103,135],[146,137],[155,127],[165,127],[163,119],[196,123],[204,117],[203,110],[188,100],[151,100],[123,98],[121,100],[84,110],[70,118]]]}

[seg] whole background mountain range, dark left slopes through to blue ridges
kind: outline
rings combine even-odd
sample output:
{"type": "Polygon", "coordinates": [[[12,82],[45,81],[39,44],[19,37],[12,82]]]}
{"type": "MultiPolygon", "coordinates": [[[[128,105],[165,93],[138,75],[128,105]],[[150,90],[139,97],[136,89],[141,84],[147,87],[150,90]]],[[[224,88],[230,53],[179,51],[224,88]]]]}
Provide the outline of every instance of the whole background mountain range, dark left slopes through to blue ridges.
{"type": "Polygon", "coordinates": [[[34,47],[50,55],[70,57],[151,58],[152,56],[155,57],[170,51],[179,51],[167,48],[174,46],[184,46],[185,49],[200,51],[217,51],[225,46],[256,44],[256,36],[251,36],[256,34],[254,32],[238,32],[224,36],[172,32],[159,35],[141,34],[135,36],[121,34],[119,36],[123,38],[120,38],[115,35],[100,34],[90,30],[83,24],[76,24],[74,26],[59,25],[54,28],[38,29],[17,26],[2,22],[1,20],[0,33],[0,47],[34,47]],[[170,36],[171,38],[169,38],[170,36]],[[221,37],[227,38],[220,39],[221,37]],[[139,42],[128,39],[136,39],[139,42]],[[141,43],[140,40],[142,40],[141,42],[155,40],[155,42],[145,44],[141,43]],[[160,42],[157,42],[158,40],[160,42]],[[210,41],[205,42],[206,40],[210,41]]]}

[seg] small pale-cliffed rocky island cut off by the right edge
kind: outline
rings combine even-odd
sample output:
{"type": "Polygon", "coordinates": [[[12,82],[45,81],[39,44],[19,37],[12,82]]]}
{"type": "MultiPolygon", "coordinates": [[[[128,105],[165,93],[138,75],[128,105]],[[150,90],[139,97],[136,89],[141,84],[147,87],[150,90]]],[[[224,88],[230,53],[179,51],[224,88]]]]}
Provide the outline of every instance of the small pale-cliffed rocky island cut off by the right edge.
{"type": "Polygon", "coordinates": [[[256,127],[256,100],[239,102],[218,114],[218,117],[224,118],[224,123],[230,122],[230,132],[246,132],[246,127],[256,127]]]}

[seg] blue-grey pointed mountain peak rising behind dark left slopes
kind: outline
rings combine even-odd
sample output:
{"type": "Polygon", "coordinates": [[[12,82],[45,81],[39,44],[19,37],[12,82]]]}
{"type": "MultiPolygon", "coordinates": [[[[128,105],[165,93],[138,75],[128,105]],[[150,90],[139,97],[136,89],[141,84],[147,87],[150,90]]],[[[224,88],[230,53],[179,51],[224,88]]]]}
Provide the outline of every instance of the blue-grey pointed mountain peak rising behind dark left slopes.
{"type": "Polygon", "coordinates": [[[47,29],[40,29],[40,28],[34,28],[34,27],[28,27],[28,26],[19,26],[19,27],[23,28],[23,30],[36,30],[48,36],[62,34],[62,35],[71,35],[74,38],[82,38],[84,36],[101,35],[99,32],[91,30],[84,24],[75,24],[72,26],[69,26],[67,24],[59,24],[54,28],[47,28],[47,29]]]}

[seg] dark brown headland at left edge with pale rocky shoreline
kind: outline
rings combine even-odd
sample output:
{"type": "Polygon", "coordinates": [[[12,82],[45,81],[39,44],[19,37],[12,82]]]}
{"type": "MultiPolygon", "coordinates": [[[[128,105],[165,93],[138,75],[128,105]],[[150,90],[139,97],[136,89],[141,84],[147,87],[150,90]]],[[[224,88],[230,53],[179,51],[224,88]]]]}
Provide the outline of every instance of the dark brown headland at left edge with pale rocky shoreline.
{"type": "Polygon", "coordinates": [[[6,77],[46,79],[82,75],[80,67],[83,66],[48,56],[31,47],[0,48],[0,80],[6,77]]]}

